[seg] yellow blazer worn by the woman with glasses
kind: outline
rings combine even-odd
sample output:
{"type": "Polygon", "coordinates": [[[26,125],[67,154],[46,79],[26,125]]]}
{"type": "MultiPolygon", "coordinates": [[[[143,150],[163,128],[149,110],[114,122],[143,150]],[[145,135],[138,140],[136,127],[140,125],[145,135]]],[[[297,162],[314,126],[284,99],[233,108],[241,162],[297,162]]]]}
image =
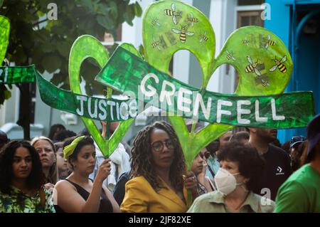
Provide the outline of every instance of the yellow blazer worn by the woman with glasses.
{"type": "MultiPolygon", "coordinates": [[[[134,213],[183,213],[187,206],[176,192],[161,180],[164,188],[154,191],[144,176],[137,176],[126,184],[126,193],[120,209],[134,213]]],[[[187,191],[183,187],[183,196],[186,200],[187,191]]]]}

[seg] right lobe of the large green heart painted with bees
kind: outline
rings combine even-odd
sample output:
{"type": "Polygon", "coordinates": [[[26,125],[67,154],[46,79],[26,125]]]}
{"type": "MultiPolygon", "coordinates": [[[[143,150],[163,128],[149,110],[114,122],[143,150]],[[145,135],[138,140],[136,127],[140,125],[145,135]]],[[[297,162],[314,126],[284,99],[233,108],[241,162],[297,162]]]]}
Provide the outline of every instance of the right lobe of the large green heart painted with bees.
{"type": "Polygon", "coordinates": [[[259,26],[238,28],[229,36],[215,60],[215,68],[224,63],[233,65],[239,73],[237,95],[283,93],[293,68],[284,43],[259,26]]]}

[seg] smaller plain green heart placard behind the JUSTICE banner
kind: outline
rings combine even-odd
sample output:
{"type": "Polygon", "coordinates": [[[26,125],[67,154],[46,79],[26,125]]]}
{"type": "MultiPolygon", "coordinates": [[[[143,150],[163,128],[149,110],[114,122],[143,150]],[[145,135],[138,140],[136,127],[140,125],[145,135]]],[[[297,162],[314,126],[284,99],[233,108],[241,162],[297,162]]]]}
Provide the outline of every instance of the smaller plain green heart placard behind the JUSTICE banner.
{"type": "MultiPolygon", "coordinates": [[[[129,51],[134,52],[134,48],[129,45],[124,45],[124,48],[127,48],[129,51]]],[[[86,58],[93,58],[96,60],[100,68],[102,68],[107,60],[109,59],[109,54],[107,53],[106,48],[92,36],[80,36],[75,40],[70,51],[69,58],[69,79],[70,79],[70,90],[73,93],[82,94],[80,88],[80,66],[86,58]]],[[[108,95],[111,95],[110,89],[108,89],[108,95]]],[[[132,124],[133,119],[129,119],[123,122],[119,122],[117,130],[114,131],[110,139],[105,139],[100,134],[95,122],[89,118],[80,117],[82,122],[85,124],[88,132],[90,132],[93,139],[100,148],[102,154],[105,158],[110,157],[114,149],[117,148],[117,145],[121,141],[124,134],[129,129],[132,124]]]]}

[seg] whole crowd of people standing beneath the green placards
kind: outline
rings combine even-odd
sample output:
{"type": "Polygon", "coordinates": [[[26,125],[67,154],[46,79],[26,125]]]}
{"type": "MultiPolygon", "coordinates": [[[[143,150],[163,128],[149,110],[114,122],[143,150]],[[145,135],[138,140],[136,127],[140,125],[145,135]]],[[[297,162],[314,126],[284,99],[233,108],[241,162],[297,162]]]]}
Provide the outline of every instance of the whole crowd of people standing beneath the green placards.
{"type": "MultiPolygon", "coordinates": [[[[102,122],[102,136],[116,128],[102,122]]],[[[320,212],[320,115],[282,147],[275,129],[226,132],[186,166],[168,122],[107,159],[87,130],[53,125],[31,141],[0,131],[0,212],[320,212]]]]}

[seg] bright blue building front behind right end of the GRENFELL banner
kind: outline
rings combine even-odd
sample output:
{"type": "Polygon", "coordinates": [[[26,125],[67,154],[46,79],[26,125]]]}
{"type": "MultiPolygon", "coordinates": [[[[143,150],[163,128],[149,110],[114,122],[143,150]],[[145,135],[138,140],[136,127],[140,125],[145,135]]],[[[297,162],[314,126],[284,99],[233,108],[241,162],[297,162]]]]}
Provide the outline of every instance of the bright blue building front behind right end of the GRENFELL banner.
{"type": "MultiPolygon", "coordinates": [[[[292,55],[292,9],[295,8],[298,17],[306,12],[320,9],[320,0],[294,1],[294,0],[266,0],[271,6],[271,20],[265,21],[265,28],[282,39],[292,55]]],[[[296,71],[293,72],[286,92],[295,90],[312,90],[316,113],[320,112],[320,16],[314,16],[318,21],[318,31],[315,35],[301,33],[298,49],[294,55],[296,71]],[[295,80],[295,81],[294,81],[295,80]]],[[[299,23],[299,21],[297,21],[299,23]]],[[[294,28],[296,29],[296,28],[294,28]]],[[[297,34],[296,34],[297,35],[297,34]]],[[[305,134],[306,129],[279,130],[278,139],[284,143],[293,135],[305,134]]]]}

